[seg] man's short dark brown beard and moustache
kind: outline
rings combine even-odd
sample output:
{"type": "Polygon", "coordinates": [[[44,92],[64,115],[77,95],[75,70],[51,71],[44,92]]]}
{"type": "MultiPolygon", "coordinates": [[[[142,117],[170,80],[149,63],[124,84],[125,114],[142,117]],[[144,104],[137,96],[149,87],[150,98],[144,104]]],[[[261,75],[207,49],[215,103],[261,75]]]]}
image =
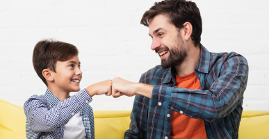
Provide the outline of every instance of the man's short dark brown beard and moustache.
{"type": "MultiPolygon", "coordinates": [[[[168,49],[168,47],[165,47],[164,49],[168,49]]],[[[185,60],[187,56],[187,50],[184,48],[184,42],[181,40],[180,37],[177,41],[177,46],[173,49],[171,48],[168,50],[170,52],[170,56],[168,58],[161,59],[161,67],[165,69],[181,65],[181,63],[185,60]]]]}

